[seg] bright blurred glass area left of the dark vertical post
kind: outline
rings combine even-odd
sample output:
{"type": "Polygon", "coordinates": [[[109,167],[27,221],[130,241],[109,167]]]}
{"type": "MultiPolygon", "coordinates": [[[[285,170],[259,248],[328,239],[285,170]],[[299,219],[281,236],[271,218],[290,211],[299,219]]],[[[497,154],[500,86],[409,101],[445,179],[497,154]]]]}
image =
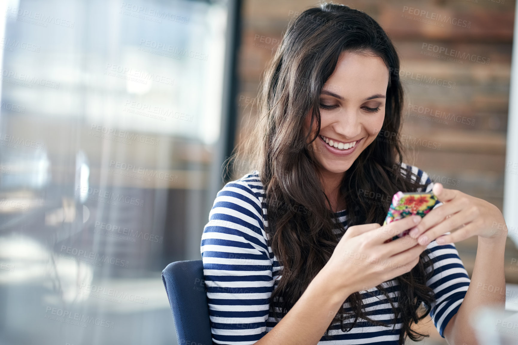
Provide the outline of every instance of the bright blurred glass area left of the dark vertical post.
{"type": "Polygon", "coordinates": [[[0,6],[0,343],[175,343],[161,272],[201,259],[227,2],[0,6]]]}

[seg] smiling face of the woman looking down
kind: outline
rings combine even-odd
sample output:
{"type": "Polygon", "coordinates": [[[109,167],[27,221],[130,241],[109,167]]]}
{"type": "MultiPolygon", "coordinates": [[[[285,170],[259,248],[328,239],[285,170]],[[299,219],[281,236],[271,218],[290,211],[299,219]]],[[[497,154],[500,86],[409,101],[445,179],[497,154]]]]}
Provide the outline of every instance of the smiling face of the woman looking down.
{"type": "MultiPolygon", "coordinates": [[[[376,139],[385,118],[388,84],[389,69],[380,57],[340,54],[335,71],[320,95],[319,137],[308,147],[324,170],[343,173],[376,139]]],[[[306,132],[310,120],[309,114],[306,132]]],[[[312,130],[314,134],[315,123],[312,130]]]]}

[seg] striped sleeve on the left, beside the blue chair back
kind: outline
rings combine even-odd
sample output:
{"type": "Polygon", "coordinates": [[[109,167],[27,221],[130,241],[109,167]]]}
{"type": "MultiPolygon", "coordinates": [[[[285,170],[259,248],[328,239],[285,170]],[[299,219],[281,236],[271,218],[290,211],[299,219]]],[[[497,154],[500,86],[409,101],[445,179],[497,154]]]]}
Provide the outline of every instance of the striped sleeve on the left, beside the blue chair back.
{"type": "Polygon", "coordinates": [[[253,344],[266,333],[274,289],[259,193],[240,180],[217,194],[200,245],[212,341],[253,344]]]}

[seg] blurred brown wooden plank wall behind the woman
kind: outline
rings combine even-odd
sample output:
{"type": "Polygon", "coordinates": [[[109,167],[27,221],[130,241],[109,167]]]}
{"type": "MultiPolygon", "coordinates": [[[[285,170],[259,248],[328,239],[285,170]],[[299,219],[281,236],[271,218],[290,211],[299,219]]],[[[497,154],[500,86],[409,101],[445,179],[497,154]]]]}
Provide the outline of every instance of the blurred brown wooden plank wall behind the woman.
{"type": "MultiPolygon", "coordinates": [[[[418,138],[404,161],[428,172],[446,188],[502,209],[514,2],[362,0],[341,4],[377,20],[398,51],[406,99],[402,132],[418,138]],[[449,19],[427,19],[439,15],[449,19]],[[452,50],[458,51],[457,57],[447,55],[455,54],[452,50]],[[440,149],[420,144],[425,140],[440,144],[440,149]]],[[[315,5],[307,0],[244,1],[237,142],[250,129],[247,121],[249,115],[255,117],[258,83],[287,24],[315,5]]],[[[242,174],[238,171],[234,177],[242,174]]],[[[477,239],[458,243],[457,248],[471,274],[477,239]]],[[[506,257],[506,264],[509,258],[518,257],[510,239],[506,257]]],[[[506,279],[518,283],[510,267],[506,279]]],[[[437,337],[435,331],[433,338],[437,337]]]]}

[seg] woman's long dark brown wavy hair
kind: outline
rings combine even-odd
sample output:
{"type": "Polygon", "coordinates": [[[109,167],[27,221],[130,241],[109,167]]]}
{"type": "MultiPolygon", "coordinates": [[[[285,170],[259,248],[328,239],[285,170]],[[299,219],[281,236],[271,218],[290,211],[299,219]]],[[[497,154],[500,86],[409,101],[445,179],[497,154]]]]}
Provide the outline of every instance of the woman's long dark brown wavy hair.
{"type": "MultiPolygon", "coordinates": [[[[277,321],[298,301],[346,231],[331,211],[307,142],[314,124],[317,131],[310,142],[320,132],[320,93],[344,51],[379,56],[390,73],[383,126],[341,182],[340,198],[348,205],[347,225],[382,224],[394,193],[422,191],[425,187],[420,178],[411,181],[413,172],[409,169],[405,176],[401,174],[399,129],[403,90],[399,58],[389,37],[365,12],[348,6],[323,4],[302,12],[289,24],[265,71],[257,102],[258,122],[244,149],[238,149],[233,156],[244,154],[251,162],[248,167],[259,172],[265,188],[263,208],[267,209],[268,245],[283,267],[270,298],[270,312],[277,321]],[[304,119],[309,113],[311,126],[306,133],[304,119]],[[386,202],[366,199],[365,191],[385,196],[386,202]],[[336,228],[340,229],[338,234],[333,231],[336,228]]],[[[375,325],[392,325],[392,332],[397,332],[395,326],[401,322],[401,345],[407,337],[422,340],[428,335],[411,326],[428,314],[435,301],[433,290],[426,286],[431,275],[433,263],[429,250],[425,250],[410,272],[395,278],[398,296],[391,297],[386,285],[377,287],[392,306],[395,317],[391,324],[372,320],[373,313],[364,310],[362,295],[355,292],[344,301],[350,308],[342,304],[324,337],[329,337],[337,322],[342,332],[348,332],[363,319],[375,325]],[[354,321],[350,322],[352,318],[354,321]]]]}

